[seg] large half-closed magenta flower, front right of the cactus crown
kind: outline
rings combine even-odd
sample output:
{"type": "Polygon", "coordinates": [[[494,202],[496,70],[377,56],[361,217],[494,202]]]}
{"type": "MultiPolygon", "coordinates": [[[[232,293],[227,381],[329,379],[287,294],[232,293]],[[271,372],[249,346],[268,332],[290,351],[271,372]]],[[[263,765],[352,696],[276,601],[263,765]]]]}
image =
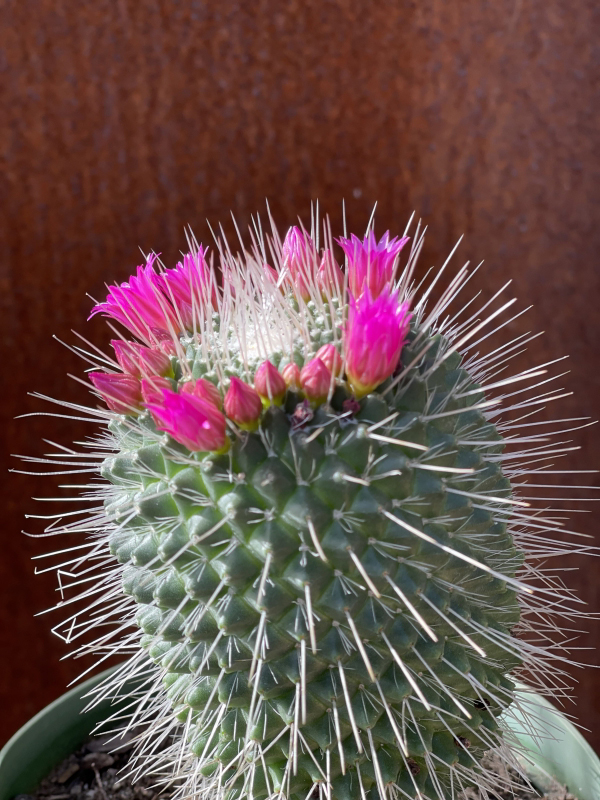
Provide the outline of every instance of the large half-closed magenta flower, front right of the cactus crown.
{"type": "Polygon", "coordinates": [[[408,303],[385,288],[378,297],[369,289],[350,297],[344,346],[346,374],[356,397],[373,391],[394,372],[410,325],[408,303]]]}

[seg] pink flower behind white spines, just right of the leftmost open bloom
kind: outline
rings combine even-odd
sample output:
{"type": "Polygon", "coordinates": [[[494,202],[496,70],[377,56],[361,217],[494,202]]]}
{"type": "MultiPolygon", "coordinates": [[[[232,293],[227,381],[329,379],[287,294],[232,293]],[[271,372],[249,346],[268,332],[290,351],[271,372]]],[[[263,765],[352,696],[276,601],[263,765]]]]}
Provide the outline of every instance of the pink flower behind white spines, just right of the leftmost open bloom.
{"type": "Polygon", "coordinates": [[[187,253],[183,263],[166,270],[160,278],[163,292],[175,306],[186,330],[193,330],[194,319],[197,323],[202,310],[211,305],[217,308],[215,276],[206,262],[202,246],[197,253],[187,253]]]}

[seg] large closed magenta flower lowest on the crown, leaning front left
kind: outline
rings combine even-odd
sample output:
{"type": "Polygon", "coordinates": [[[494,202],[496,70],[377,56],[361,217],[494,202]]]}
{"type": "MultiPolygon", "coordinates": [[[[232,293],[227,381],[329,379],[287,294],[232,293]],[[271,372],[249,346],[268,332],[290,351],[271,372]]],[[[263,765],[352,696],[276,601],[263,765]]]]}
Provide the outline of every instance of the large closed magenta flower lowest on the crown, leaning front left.
{"type": "Polygon", "coordinates": [[[191,394],[163,389],[148,403],[157,427],[188,450],[222,450],[227,438],[225,417],[218,408],[191,394]]]}

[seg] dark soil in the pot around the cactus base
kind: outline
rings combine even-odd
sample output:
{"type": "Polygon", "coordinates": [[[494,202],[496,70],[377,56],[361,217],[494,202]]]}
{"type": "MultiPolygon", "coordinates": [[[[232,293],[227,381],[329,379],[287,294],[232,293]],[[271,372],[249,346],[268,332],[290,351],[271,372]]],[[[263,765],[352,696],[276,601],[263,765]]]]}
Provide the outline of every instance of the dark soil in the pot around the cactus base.
{"type": "MultiPolygon", "coordinates": [[[[125,741],[115,750],[112,737],[89,739],[59,764],[33,794],[17,795],[15,800],[170,800],[173,792],[156,788],[156,778],[141,778],[134,784],[129,779],[119,780],[119,775],[128,772],[133,747],[132,740],[125,741]]],[[[506,768],[493,754],[486,756],[484,763],[499,777],[506,777],[506,768]]],[[[549,794],[541,796],[528,790],[516,773],[511,771],[510,778],[523,788],[515,790],[514,794],[499,791],[502,800],[576,800],[558,784],[549,794]]],[[[470,789],[464,800],[481,800],[481,795],[470,789]]]]}

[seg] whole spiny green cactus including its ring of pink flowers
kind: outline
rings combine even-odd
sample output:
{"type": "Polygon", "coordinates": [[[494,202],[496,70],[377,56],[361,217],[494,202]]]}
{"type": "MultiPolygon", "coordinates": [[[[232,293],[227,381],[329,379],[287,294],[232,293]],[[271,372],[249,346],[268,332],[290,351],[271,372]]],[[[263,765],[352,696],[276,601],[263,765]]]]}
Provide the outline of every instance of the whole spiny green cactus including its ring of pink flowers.
{"type": "Polygon", "coordinates": [[[218,242],[221,281],[195,242],[150,256],[94,307],[140,341],[90,375],[101,507],[51,530],[89,533],[66,563],[91,605],[57,631],[127,656],[98,699],[142,682],[137,769],[178,798],[493,797],[514,680],[561,694],[580,614],[540,562],[589,548],[524,480],[560,455],[524,427],[560,395],[506,376],[527,336],[479,353],[514,301],[461,306],[466,266],[428,307],[419,228],[402,269],[406,236],[338,240],[342,270],[324,230],[218,242]]]}

